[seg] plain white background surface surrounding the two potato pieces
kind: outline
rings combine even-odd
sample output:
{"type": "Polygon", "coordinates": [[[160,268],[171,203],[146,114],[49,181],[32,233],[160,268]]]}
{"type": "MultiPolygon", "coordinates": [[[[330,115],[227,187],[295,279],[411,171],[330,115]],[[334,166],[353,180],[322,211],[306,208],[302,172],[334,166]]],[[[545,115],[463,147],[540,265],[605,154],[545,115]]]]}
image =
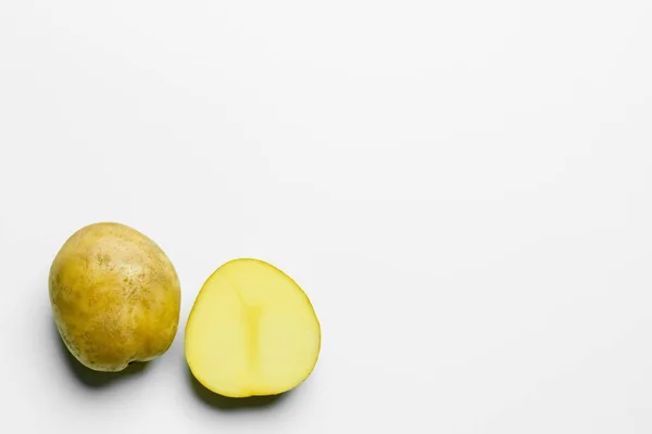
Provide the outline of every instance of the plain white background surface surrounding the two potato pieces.
{"type": "Polygon", "coordinates": [[[0,2],[2,433],[652,432],[652,2],[0,2]],[[156,241],[179,333],[103,376],[47,275],[82,226],[156,241]],[[196,387],[201,284],[253,256],[314,374],[196,387]]]}

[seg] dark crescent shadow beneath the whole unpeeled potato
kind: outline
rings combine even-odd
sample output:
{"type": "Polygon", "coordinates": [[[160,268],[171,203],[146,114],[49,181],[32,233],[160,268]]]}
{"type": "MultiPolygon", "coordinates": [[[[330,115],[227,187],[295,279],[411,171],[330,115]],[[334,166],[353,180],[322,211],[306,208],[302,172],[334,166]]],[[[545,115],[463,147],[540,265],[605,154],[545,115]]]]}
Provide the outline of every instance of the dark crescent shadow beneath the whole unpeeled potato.
{"type": "Polygon", "coordinates": [[[118,380],[122,381],[128,378],[137,376],[140,373],[142,373],[149,366],[149,362],[134,362],[120,372],[93,371],[92,369],[86,368],[84,365],[82,365],[75,358],[75,356],[73,356],[71,352],[68,352],[53,321],[51,328],[52,332],[55,335],[54,339],[59,343],[58,346],[60,349],[61,358],[64,359],[64,363],[68,368],[70,373],[86,387],[98,388],[106,386],[118,380]]]}

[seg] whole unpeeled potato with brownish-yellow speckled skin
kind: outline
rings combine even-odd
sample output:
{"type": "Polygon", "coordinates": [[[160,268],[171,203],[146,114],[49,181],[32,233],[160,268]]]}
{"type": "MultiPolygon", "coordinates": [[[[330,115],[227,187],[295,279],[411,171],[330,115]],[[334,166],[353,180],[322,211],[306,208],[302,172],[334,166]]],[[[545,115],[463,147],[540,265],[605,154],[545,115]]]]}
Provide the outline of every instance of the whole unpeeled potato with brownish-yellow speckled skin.
{"type": "Polygon", "coordinates": [[[99,222],[75,232],[52,263],[49,293],[63,342],[96,371],[151,360],[177,332],[176,270],[152,240],[125,225],[99,222]]]}

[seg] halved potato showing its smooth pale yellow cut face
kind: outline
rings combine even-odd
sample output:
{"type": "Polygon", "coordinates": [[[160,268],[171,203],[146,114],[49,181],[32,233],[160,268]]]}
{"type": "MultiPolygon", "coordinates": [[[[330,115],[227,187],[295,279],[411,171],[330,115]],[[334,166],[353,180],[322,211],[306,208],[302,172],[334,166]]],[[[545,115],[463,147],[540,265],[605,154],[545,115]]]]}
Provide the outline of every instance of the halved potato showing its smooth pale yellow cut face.
{"type": "Polygon", "coordinates": [[[186,359],[206,388],[228,397],[277,395],[313,371],[319,322],[283,271],[236,259],[202,286],[186,326],[186,359]]]}

